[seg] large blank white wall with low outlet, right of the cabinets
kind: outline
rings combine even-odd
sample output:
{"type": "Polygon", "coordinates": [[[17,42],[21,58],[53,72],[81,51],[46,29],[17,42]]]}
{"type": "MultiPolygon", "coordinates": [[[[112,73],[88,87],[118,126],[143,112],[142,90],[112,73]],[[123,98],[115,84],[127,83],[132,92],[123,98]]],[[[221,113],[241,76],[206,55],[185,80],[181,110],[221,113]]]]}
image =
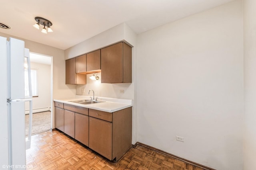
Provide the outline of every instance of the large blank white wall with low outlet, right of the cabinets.
{"type": "Polygon", "coordinates": [[[242,17],[236,0],[138,35],[139,142],[242,169],[242,17]]]}

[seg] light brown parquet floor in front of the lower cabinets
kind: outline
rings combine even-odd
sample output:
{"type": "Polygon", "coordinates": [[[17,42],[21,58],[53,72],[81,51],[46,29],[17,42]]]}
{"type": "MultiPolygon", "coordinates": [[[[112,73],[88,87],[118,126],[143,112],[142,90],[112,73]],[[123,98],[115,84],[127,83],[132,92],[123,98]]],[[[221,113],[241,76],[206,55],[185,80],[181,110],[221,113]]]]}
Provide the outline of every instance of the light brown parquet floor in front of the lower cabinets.
{"type": "Polygon", "coordinates": [[[114,163],[58,130],[32,136],[26,160],[28,170],[203,170],[140,145],[114,163]]]}

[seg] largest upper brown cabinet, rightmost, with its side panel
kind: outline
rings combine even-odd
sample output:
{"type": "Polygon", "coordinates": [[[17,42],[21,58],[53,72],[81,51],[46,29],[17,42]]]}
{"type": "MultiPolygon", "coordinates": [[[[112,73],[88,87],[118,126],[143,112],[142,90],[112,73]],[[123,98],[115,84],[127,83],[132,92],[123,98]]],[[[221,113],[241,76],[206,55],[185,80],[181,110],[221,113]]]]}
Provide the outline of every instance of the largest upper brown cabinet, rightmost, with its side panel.
{"type": "Polygon", "coordinates": [[[101,82],[132,82],[132,47],[120,42],[101,49],[101,82]]]}

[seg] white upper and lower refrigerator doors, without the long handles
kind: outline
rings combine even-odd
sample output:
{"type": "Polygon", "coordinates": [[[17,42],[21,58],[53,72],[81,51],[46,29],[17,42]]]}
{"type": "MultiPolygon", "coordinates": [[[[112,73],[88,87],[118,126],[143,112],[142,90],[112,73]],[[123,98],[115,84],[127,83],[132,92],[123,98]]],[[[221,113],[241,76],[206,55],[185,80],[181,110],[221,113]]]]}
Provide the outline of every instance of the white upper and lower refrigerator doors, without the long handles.
{"type": "Polygon", "coordinates": [[[25,101],[32,97],[25,98],[24,41],[10,38],[7,53],[9,164],[26,166],[25,101]]]}

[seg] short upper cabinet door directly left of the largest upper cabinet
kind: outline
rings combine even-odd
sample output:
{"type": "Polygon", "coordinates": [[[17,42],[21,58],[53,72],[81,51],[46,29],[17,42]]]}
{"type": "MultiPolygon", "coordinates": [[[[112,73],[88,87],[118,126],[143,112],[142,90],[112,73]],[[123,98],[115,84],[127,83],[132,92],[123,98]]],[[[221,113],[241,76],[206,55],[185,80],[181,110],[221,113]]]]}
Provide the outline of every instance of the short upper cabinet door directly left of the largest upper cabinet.
{"type": "Polygon", "coordinates": [[[87,71],[100,70],[100,50],[87,54],[87,71]]]}

